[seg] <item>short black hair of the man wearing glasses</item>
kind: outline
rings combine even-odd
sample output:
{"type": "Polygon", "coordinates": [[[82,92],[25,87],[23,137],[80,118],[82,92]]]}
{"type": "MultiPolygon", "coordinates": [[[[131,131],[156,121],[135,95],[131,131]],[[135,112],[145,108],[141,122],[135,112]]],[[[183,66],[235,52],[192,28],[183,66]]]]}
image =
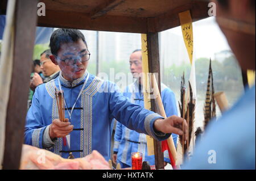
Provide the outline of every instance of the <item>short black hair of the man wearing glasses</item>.
{"type": "Polygon", "coordinates": [[[56,56],[61,44],[76,42],[80,39],[84,41],[87,47],[85,37],[81,31],[75,29],[60,28],[52,33],[49,47],[51,48],[52,54],[56,56]]]}

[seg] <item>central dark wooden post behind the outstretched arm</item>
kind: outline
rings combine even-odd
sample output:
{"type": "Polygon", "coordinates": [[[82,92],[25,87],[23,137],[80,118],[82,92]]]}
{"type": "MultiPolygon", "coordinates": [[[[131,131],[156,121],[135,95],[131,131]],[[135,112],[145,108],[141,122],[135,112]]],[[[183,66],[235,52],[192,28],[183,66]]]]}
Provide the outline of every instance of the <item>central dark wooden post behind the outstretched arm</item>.
{"type": "MultiPolygon", "coordinates": [[[[147,53],[148,53],[148,71],[149,73],[156,73],[158,76],[158,89],[160,87],[160,61],[159,61],[159,45],[158,33],[147,33],[147,53]]],[[[160,91],[161,92],[161,91],[160,91]]],[[[151,111],[159,113],[154,99],[151,99],[151,111]]],[[[155,152],[155,169],[164,169],[162,144],[160,141],[154,140],[155,152]]]]}

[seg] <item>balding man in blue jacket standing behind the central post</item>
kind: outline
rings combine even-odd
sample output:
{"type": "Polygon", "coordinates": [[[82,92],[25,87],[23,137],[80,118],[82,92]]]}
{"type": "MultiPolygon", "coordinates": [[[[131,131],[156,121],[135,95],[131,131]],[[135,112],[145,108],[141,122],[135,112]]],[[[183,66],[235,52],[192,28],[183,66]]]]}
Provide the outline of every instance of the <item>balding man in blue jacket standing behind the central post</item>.
{"type": "MultiPolygon", "coordinates": [[[[123,95],[130,99],[131,103],[144,107],[142,91],[142,52],[141,49],[134,50],[130,56],[130,70],[136,79],[134,83],[126,87],[123,95]]],[[[161,83],[161,97],[167,116],[177,115],[176,99],[174,92],[161,83]]],[[[177,134],[172,134],[176,145],[177,134]]],[[[155,165],[155,156],[147,154],[146,134],[138,133],[125,125],[117,122],[114,134],[113,162],[120,163],[122,168],[131,167],[131,153],[141,152],[142,161],[148,161],[155,165]]],[[[164,162],[170,163],[168,150],[164,151],[164,162]]]]}

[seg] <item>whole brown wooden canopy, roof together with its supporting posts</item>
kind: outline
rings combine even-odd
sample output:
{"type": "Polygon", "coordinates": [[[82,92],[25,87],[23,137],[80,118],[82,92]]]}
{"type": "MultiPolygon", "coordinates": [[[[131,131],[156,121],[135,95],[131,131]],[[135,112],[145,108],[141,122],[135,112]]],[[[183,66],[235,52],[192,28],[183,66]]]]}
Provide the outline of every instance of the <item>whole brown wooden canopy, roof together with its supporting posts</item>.
{"type": "MultiPolygon", "coordinates": [[[[28,67],[32,64],[36,26],[146,33],[149,71],[160,75],[158,32],[180,26],[179,13],[183,11],[190,10],[193,22],[208,17],[208,2],[202,0],[40,0],[40,2],[46,6],[46,16],[36,15],[39,1],[16,0],[14,64],[6,117],[3,169],[19,169],[27,112],[27,87],[30,82],[28,67]]],[[[0,14],[6,14],[7,3],[7,0],[0,1],[0,14]]],[[[160,76],[158,78],[160,90],[160,76]]],[[[152,111],[156,110],[154,103],[151,103],[151,108],[152,111]]],[[[159,164],[156,161],[156,165],[159,164]]],[[[159,166],[162,167],[163,165],[159,166]]]]}

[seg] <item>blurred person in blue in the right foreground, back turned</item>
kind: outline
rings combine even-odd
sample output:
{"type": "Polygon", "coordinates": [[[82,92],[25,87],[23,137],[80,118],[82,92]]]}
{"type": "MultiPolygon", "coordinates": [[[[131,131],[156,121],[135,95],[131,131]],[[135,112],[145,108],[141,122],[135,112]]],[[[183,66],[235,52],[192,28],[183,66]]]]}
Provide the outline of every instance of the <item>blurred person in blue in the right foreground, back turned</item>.
{"type": "MultiPolygon", "coordinates": [[[[218,0],[216,21],[241,69],[255,70],[255,0],[218,0]]],[[[255,170],[255,84],[217,122],[182,169],[255,170]]]]}

